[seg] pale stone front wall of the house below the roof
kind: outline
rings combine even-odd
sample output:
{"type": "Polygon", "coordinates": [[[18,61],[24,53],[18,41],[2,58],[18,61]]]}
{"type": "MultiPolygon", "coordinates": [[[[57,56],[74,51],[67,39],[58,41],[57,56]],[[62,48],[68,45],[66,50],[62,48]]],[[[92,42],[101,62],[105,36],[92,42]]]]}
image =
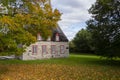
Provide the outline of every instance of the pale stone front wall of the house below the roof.
{"type": "Polygon", "coordinates": [[[69,44],[68,42],[46,42],[40,41],[31,44],[27,47],[26,52],[23,53],[22,60],[35,60],[46,58],[60,58],[69,56],[69,44]],[[33,53],[33,46],[37,46],[37,53],[33,53]],[[42,46],[46,46],[46,52],[43,53],[42,46]],[[55,51],[52,51],[51,46],[55,46],[55,51]],[[54,53],[52,53],[54,52],[54,53]]]}

